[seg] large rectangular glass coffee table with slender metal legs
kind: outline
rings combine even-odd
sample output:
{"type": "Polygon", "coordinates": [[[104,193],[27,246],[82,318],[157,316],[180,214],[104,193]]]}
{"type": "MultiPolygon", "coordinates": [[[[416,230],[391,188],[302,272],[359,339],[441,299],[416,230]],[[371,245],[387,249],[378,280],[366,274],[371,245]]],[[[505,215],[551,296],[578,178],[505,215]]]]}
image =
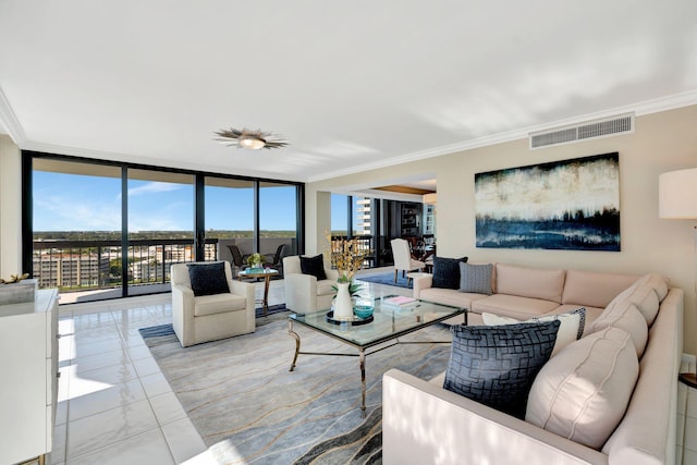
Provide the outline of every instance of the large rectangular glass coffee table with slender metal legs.
{"type": "Polygon", "coordinates": [[[289,334],[295,339],[295,355],[290,371],[295,369],[297,356],[304,355],[334,355],[358,357],[360,369],[360,411],[366,412],[366,356],[392,347],[396,344],[432,344],[451,343],[451,341],[414,341],[400,342],[399,338],[427,328],[449,318],[463,315],[463,322],[467,323],[467,309],[418,301],[415,305],[402,308],[382,305],[382,301],[392,295],[374,299],[375,311],[372,319],[355,318],[353,321],[335,321],[331,319],[330,310],[313,314],[293,314],[289,317],[289,334]],[[326,353],[301,351],[301,336],[293,331],[293,325],[302,325],[314,331],[334,338],[346,345],[358,350],[357,353],[326,353]],[[387,344],[387,345],[386,345],[387,344]],[[378,346],[379,347],[376,347],[378,346]],[[368,352],[369,348],[376,347],[368,352]]]}

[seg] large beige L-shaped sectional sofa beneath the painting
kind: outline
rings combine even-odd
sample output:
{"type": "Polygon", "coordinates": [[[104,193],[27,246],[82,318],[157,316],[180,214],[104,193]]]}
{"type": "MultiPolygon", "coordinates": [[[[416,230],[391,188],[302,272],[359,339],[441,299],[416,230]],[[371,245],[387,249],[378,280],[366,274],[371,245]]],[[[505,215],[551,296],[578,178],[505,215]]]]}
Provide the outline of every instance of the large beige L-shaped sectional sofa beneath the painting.
{"type": "MultiPolygon", "coordinates": [[[[431,277],[420,277],[414,280],[414,296],[470,308],[473,313],[468,316],[469,325],[481,322],[481,316],[477,314],[481,311],[525,320],[531,316],[564,313],[585,306],[587,323],[583,338],[552,357],[535,383],[540,381],[542,374],[547,376],[546,369],[552,366],[552,360],[555,364],[554,370],[559,371],[559,365],[572,359],[570,355],[574,351],[582,351],[583,360],[584,347],[602,345],[597,343],[601,336],[626,335],[631,351],[636,346],[639,354],[632,352],[627,355],[627,350],[623,352],[625,358],[634,357],[636,378],[625,375],[632,369],[617,371],[612,375],[613,378],[608,378],[620,383],[631,383],[626,411],[622,406],[620,412],[622,419],[611,426],[609,438],[603,439],[601,445],[584,445],[577,439],[580,437],[578,431],[592,433],[596,427],[608,428],[608,425],[601,425],[607,423],[603,407],[595,413],[596,419],[583,424],[578,420],[582,418],[579,414],[577,421],[572,425],[572,432],[560,432],[553,427],[554,412],[548,415],[550,420],[541,425],[543,427],[530,423],[533,392],[528,399],[526,421],[443,389],[443,376],[425,381],[393,369],[383,377],[383,462],[526,465],[674,463],[677,371],[683,351],[683,291],[669,287],[667,280],[656,274],[638,277],[543,270],[503,264],[493,267],[493,274],[491,295],[435,289],[430,286],[431,277]],[[633,308],[631,311],[627,310],[629,307],[633,308]],[[646,318],[640,318],[645,328],[637,329],[636,319],[628,323],[627,316],[636,317],[639,313],[646,318]]],[[[598,353],[589,353],[587,358],[592,362],[594,356],[597,357],[598,353]]],[[[577,362],[578,356],[573,363],[577,362]]],[[[583,363],[585,362],[580,362],[579,366],[583,363]]],[[[607,365],[615,370],[614,359],[607,365]]],[[[561,368],[564,369],[563,366],[561,368]]],[[[572,366],[568,369],[566,375],[557,372],[554,376],[567,380],[585,368],[572,366]]],[[[611,387],[608,388],[611,382],[603,380],[600,388],[596,387],[598,395],[592,394],[592,391],[579,394],[577,391],[568,391],[567,387],[555,391],[552,389],[553,399],[542,399],[542,402],[557,402],[553,408],[558,413],[561,412],[559,408],[580,408],[578,412],[582,412],[585,404],[576,405],[576,400],[582,402],[585,399],[583,402],[591,405],[597,401],[592,397],[596,395],[608,396],[610,403],[606,405],[614,408],[614,393],[602,391],[612,391],[611,387]]],[[[576,386],[575,389],[583,391],[586,387],[576,386]]],[[[539,399],[536,401],[539,404],[538,401],[539,399]]],[[[586,414],[587,412],[584,413],[586,414]]]]}

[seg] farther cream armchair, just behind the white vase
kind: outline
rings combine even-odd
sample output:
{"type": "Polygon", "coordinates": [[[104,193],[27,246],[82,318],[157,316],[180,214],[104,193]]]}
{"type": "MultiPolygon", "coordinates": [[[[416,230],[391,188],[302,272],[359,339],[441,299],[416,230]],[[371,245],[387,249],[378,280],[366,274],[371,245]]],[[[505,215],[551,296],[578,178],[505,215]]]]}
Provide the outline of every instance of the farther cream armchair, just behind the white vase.
{"type": "Polygon", "coordinates": [[[335,291],[332,289],[339,272],[325,262],[326,280],[317,280],[311,274],[303,274],[299,255],[283,257],[283,281],[285,286],[285,308],[296,314],[311,314],[331,308],[335,291]]]}

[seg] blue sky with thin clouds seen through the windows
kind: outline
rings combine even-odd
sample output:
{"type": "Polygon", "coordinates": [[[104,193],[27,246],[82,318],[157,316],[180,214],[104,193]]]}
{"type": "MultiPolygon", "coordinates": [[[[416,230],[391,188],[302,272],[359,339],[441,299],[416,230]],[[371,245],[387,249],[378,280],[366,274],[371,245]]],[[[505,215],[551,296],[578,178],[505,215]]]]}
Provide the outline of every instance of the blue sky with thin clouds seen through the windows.
{"type": "MultiPolygon", "coordinates": [[[[35,231],[120,231],[121,179],[34,171],[35,231]]],[[[206,229],[254,228],[250,188],[206,188],[206,229]]],[[[354,200],[355,204],[355,200],[354,200]]],[[[191,185],[129,182],[129,230],[192,231],[194,189],[191,185]]],[[[295,229],[295,187],[264,187],[262,230],[295,229]]],[[[346,196],[331,197],[331,228],[346,229],[346,196]]]]}

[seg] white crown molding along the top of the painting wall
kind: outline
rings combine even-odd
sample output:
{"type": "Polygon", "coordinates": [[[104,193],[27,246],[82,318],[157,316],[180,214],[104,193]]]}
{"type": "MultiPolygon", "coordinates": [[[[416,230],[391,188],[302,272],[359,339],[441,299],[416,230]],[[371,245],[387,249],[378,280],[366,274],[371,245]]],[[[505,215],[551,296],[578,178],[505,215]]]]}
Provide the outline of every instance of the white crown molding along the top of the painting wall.
{"type": "Polygon", "coordinates": [[[377,170],[380,168],[387,168],[394,164],[408,163],[411,161],[423,160],[432,157],[440,157],[443,155],[455,154],[458,151],[472,150],[475,148],[487,147],[496,144],[503,144],[512,140],[517,140],[528,137],[530,133],[538,131],[547,131],[554,127],[566,126],[583,123],[588,120],[597,120],[616,115],[620,113],[634,112],[637,117],[646,114],[658,113],[661,111],[673,110],[682,107],[689,107],[697,105],[697,90],[689,90],[681,94],[675,94],[667,97],[656,98],[651,100],[645,100],[637,103],[632,103],[623,107],[615,107],[608,110],[598,111],[595,113],[587,113],[579,117],[567,118],[564,120],[558,120],[550,123],[538,124],[535,126],[528,126],[521,130],[508,131],[504,133],[492,134],[490,136],[479,137],[472,140],[465,140],[462,143],[444,145],[441,147],[435,147],[427,150],[415,151],[412,154],[405,154],[403,156],[391,157],[382,160],[377,160],[372,163],[362,164],[360,167],[348,168],[344,170],[337,170],[325,173],[318,176],[310,176],[306,182],[325,181],[332,178],[356,174],[368,170],[377,170]]]}

